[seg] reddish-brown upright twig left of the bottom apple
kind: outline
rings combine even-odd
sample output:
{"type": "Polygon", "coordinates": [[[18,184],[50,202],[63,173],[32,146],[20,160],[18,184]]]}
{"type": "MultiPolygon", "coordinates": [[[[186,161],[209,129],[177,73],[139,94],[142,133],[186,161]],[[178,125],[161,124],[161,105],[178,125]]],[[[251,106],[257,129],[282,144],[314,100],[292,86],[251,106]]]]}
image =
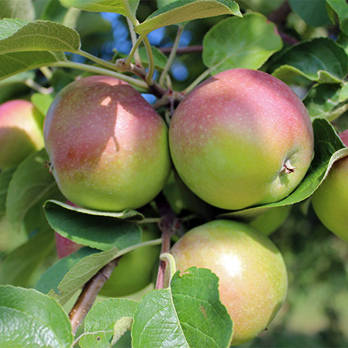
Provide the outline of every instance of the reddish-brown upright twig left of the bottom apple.
{"type": "MultiPolygon", "coordinates": [[[[177,230],[181,228],[180,219],[177,218],[171,205],[169,205],[163,193],[159,193],[156,198],[161,221],[159,222],[159,229],[162,231],[162,246],[161,255],[169,253],[171,250],[171,237],[177,230]]],[[[163,289],[166,286],[166,269],[168,266],[168,259],[159,261],[159,269],[157,273],[157,281],[155,289],[163,289]]]]}

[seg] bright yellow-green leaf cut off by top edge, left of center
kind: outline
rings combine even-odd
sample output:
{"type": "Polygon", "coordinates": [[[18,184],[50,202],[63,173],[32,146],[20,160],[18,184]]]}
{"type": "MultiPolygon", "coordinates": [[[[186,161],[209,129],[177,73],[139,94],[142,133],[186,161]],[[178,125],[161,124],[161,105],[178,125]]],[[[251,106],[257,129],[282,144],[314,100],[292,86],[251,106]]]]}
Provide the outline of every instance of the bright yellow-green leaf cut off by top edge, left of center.
{"type": "Polygon", "coordinates": [[[92,12],[120,13],[127,17],[127,6],[135,15],[140,0],[59,0],[65,7],[76,7],[92,12]]]}

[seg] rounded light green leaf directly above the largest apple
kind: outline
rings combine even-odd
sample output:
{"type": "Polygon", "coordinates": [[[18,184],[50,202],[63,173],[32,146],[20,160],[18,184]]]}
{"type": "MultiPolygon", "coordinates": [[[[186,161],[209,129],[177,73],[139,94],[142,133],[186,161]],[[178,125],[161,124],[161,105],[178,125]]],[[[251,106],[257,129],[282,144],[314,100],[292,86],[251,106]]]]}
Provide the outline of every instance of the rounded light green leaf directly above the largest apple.
{"type": "Polygon", "coordinates": [[[207,32],[203,63],[212,74],[234,68],[256,70],[282,47],[275,24],[260,13],[249,13],[243,18],[227,18],[207,32]]]}

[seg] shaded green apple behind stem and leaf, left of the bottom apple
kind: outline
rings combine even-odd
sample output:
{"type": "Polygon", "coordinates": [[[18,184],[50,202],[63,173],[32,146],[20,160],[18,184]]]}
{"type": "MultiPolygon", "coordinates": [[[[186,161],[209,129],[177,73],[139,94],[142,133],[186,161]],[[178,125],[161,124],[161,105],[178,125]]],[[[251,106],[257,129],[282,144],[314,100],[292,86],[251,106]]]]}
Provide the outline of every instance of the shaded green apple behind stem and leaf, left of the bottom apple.
{"type": "MultiPolygon", "coordinates": [[[[155,223],[141,225],[143,238],[141,242],[161,237],[155,223]]],[[[145,246],[123,255],[106,281],[100,294],[103,296],[127,296],[142,290],[152,282],[152,272],[159,260],[161,246],[145,246]]]]}

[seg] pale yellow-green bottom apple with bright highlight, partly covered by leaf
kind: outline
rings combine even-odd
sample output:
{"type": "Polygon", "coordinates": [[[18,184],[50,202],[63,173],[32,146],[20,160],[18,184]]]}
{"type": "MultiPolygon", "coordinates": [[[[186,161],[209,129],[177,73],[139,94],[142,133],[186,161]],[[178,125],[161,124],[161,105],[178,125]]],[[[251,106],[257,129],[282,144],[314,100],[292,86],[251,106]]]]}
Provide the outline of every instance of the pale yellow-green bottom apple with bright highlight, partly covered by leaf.
{"type": "Polygon", "coordinates": [[[282,255],[245,223],[216,220],[187,232],[171,248],[176,268],[211,269],[233,321],[232,345],[255,338],[274,319],[287,292],[282,255]]]}

